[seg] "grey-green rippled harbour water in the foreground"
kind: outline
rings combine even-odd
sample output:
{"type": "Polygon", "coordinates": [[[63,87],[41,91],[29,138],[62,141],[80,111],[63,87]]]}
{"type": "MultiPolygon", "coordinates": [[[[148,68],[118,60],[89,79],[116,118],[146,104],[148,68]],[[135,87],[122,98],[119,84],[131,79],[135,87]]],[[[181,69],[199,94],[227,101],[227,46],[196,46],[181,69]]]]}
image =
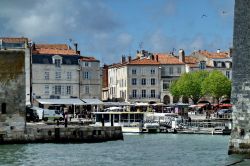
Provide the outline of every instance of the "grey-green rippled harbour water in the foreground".
{"type": "Polygon", "coordinates": [[[250,165],[227,155],[229,136],[124,135],[123,141],[0,145],[1,166],[220,166],[250,165]]]}

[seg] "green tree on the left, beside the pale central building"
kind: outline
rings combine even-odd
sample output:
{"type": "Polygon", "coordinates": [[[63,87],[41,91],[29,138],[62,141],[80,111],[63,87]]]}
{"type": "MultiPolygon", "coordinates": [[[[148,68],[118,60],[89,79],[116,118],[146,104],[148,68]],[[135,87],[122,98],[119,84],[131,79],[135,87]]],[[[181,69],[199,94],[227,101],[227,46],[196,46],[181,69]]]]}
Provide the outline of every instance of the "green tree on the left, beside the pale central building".
{"type": "Polygon", "coordinates": [[[203,96],[202,82],[206,77],[208,77],[207,71],[184,73],[177,82],[171,84],[170,92],[174,96],[188,97],[196,104],[203,96]]]}

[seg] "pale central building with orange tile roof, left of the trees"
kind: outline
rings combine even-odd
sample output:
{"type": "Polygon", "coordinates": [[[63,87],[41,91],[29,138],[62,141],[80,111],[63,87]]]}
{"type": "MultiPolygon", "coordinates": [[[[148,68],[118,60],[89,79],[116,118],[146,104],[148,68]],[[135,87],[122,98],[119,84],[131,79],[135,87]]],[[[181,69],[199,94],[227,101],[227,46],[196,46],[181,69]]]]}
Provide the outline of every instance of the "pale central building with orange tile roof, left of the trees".
{"type": "Polygon", "coordinates": [[[185,63],[170,54],[142,50],[137,51],[134,59],[122,56],[120,63],[105,66],[103,71],[107,77],[103,93],[105,90],[105,96],[111,100],[170,104],[174,100],[169,86],[185,72],[185,63]]]}

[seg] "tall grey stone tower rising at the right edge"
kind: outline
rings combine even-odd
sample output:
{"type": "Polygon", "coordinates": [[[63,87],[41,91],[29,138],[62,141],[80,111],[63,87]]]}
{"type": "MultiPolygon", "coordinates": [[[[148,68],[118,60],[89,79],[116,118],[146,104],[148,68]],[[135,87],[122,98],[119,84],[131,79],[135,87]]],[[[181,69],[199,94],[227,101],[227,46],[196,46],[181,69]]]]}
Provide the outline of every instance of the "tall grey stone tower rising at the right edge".
{"type": "Polygon", "coordinates": [[[232,73],[233,128],[228,154],[250,154],[250,1],[235,0],[232,73]]]}

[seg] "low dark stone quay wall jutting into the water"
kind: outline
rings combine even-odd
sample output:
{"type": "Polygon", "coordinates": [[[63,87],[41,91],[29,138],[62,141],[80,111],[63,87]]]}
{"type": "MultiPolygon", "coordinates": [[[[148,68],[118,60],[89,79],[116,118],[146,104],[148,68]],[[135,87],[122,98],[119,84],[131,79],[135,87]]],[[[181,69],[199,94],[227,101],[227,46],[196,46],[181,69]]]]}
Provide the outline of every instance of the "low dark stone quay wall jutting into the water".
{"type": "Polygon", "coordinates": [[[87,143],[123,140],[121,127],[29,125],[26,131],[1,133],[0,144],[87,143]]]}

